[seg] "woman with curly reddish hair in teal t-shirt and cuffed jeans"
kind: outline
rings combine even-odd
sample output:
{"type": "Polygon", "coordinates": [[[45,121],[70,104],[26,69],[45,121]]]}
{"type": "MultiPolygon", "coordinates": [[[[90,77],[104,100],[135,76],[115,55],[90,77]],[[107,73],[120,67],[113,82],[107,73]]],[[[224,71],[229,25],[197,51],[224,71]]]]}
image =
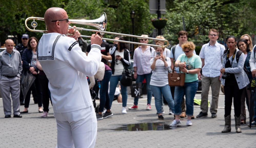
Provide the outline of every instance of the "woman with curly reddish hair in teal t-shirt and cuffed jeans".
{"type": "Polygon", "coordinates": [[[186,42],[181,46],[182,50],[185,52],[181,54],[175,62],[175,67],[180,67],[182,73],[185,75],[185,85],[175,86],[174,92],[174,115],[175,120],[172,121],[170,126],[177,126],[180,122],[181,113],[181,100],[182,97],[186,96],[186,114],[187,114],[187,126],[192,126],[191,116],[194,111],[194,97],[197,92],[198,87],[198,77],[197,74],[201,71],[202,61],[200,57],[193,53],[195,45],[193,42],[186,42]]]}

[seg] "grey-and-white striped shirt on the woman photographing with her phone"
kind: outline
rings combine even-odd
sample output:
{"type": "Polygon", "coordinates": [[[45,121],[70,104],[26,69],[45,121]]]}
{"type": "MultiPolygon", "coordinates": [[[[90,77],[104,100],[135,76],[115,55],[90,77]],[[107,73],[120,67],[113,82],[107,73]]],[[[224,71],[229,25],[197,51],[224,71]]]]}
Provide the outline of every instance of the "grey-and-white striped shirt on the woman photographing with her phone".
{"type": "MultiPolygon", "coordinates": [[[[154,58],[150,60],[150,66],[152,65],[153,61],[154,58]]],[[[162,87],[168,84],[168,69],[171,66],[171,59],[166,57],[166,62],[168,63],[167,67],[165,67],[161,59],[156,61],[156,67],[154,70],[152,70],[150,85],[162,87]]]]}

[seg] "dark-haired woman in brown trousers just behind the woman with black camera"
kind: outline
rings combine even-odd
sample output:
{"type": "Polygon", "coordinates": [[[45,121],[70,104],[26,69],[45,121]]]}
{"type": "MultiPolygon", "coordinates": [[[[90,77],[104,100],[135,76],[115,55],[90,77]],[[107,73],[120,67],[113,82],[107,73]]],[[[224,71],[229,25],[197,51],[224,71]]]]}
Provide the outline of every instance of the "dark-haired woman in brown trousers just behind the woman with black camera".
{"type": "MultiPolygon", "coordinates": [[[[252,53],[250,51],[250,46],[246,39],[238,40],[237,46],[238,46],[238,49],[244,53],[244,67],[246,68],[247,76],[249,78],[249,81],[251,82],[253,77],[252,77],[251,67],[250,67],[250,63],[249,63],[251,53],[252,53]]],[[[246,124],[245,98],[246,98],[246,104],[247,104],[248,110],[249,110],[250,97],[251,97],[251,83],[249,83],[243,89],[243,93],[242,93],[242,97],[241,97],[241,120],[240,120],[241,124],[246,124]]]]}

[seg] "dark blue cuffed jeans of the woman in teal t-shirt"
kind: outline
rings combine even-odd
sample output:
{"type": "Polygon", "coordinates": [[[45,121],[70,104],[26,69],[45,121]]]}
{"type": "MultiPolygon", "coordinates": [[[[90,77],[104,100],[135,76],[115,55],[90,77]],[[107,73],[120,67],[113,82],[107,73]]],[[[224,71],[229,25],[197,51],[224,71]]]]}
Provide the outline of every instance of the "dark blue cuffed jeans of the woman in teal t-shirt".
{"type": "Polygon", "coordinates": [[[185,94],[186,97],[186,114],[192,116],[194,113],[194,97],[197,92],[198,80],[193,82],[186,82],[184,86],[175,86],[174,91],[174,114],[181,114],[181,101],[185,94]]]}

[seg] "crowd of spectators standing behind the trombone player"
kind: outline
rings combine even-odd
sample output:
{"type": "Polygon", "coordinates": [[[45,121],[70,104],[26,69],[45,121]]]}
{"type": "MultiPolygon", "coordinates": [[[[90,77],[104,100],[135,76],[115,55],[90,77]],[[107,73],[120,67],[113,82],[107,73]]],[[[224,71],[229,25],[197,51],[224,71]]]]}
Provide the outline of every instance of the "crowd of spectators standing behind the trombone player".
{"type": "MultiPolygon", "coordinates": [[[[100,35],[100,37],[102,38],[103,36],[100,35]]],[[[216,118],[219,91],[222,84],[225,93],[225,127],[222,132],[231,131],[232,100],[235,108],[236,132],[241,132],[240,124],[246,124],[245,104],[249,109],[252,91],[251,82],[256,75],[255,50],[253,50],[255,46],[253,47],[252,45],[251,37],[245,34],[236,41],[234,36],[229,36],[226,39],[227,47],[225,47],[217,42],[219,32],[216,29],[211,29],[208,35],[209,42],[202,46],[198,55],[194,50],[194,43],[187,41],[188,33],[186,31],[178,32],[179,43],[170,50],[163,47],[153,48],[150,45],[145,45],[148,43],[147,37],[148,35],[141,35],[140,43],[144,44],[136,48],[133,54],[133,77],[136,79],[136,83],[146,80],[146,110],[151,110],[151,98],[154,96],[158,119],[163,119],[163,99],[165,99],[170,109],[169,115],[174,114],[175,117],[170,126],[180,125],[180,118],[184,117],[187,117],[186,125],[192,126],[191,119],[194,119],[194,96],[197,91],[198,80],[202,80],[201,112],[196,117],[203,118],[208,116],[208,94],[211,86],[212,101],[210,113],[212,118],[216,118]],[[170,87],[167,76],[170,72],[185,73],[185,85],[182,87],[170,87]]],[[[157,36],[157,38],[164,39],[163,36],[157,36]]],[[[124,38],[117,36],[115,40],[124,40],[124,38]]],[[[79,41],[82,51],[88,55],[91,44],[83,46],[82,39],[79,39],[79,41]]],[[[24,34],[22,36],[22,44],[16,46],[16,50],[19,51],[22,59],[22,74],[27,75],[31,73],[36,79],[26,96],[23,96],[23,92],[19,90],[19,102],[20,105],[25,105],[25,108],[23,111],[17,112],[19,107],[16,105],[15,115],[28,113],[30,93],[32,91],[34,92],[34,103],[38,104],[38,112],[43,112],[41,117],[48,117],[49,100],[51,100],[48,89],[49,81],[40,63],[37,61],[37,44],[37,38],[29,38],[27,34],[24,34]]],[[[156,45],[163,46],[164,42],[156,41],[156,45]]],[[[118,82],[123,71],[131,64],[130,52],[123,42],[114,41],[114,45],[110,47],[107,42],[103,41],[101,44],[101,58],[98,72],[94,76],[88,77],[91,95],[95,88],[94,85],[99,82],[96,86],[100,87],[98,93],[100,104],[96,111],[97,120],[114,115],[111,112],[111,105],[115,98],[118,98],[118,102],[122,103],[121,113],[127,113],[127,87],[122,84],[118,85],[118,82]],[[108,61],[111,60],[112,62],[109,63],[108,61]],[[116,89],[120,90],[118,94],[115,93],[116,89]]],[[[2,59],[0,60],[1,65],[3,65],[2,59]]],[[[5,75],[2,72],[3,77],[5,75]]],[[[6,77],[8,78],[8,76],[6,77]]],[[[22,86],[21,82],[22,80],[19,83],[20,87],[22,86]]],[[[4,89],[2,88],[1,90],[4,89]]],[[[3,98],[3,101],[5,100],[3,98]]],[[[134,104],[128,109],[138,109],[138,100],[139,96],[135,97],[134,104]]],[[[255,105],[256,101],[254,101],[254,120],[256,119],[255,105]]],[[[8,111],[5,109],[6,118],[10,117],[7,116],[10,114],[9,110],[9,107],[8,111]]],[[[256,126],[255,121],[252,122],[252,126],[256,126]]]]}

